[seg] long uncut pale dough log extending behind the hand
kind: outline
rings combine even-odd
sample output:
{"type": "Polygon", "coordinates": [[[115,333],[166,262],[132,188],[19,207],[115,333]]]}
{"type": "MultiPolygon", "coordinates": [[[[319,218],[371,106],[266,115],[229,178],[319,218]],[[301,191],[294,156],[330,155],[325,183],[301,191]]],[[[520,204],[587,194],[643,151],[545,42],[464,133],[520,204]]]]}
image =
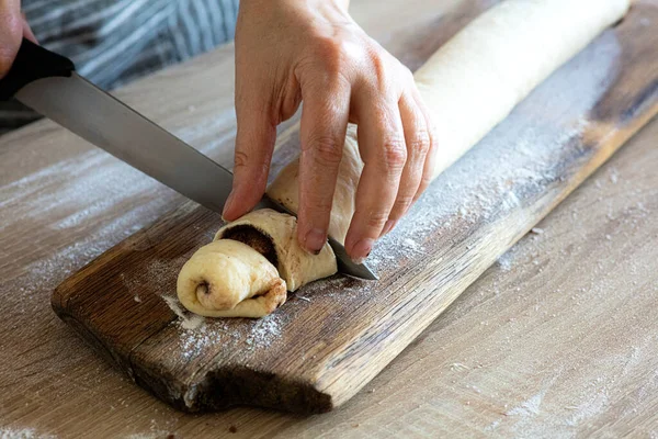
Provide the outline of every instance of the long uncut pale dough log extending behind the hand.
{"type": "Polygon", "coordinates": [[[621,20],[629,0],[507,0],[464,27],[413,75],[432,113],[434,177],[559,66],[621,20]]]}

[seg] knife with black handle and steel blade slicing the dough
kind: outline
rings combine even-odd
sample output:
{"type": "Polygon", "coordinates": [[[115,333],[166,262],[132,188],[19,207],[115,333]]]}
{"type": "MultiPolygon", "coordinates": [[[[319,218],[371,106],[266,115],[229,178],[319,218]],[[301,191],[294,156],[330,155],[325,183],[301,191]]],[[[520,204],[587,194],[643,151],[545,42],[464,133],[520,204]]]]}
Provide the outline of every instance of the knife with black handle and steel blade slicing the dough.
{"type": "MultiPolygon", "coordinates": [[[[23,38],[11,70],[0,80],[0,100],[15,97],[147,176],[222,213],[232,185],[230,171],[75,70],[70,59],[23,38]]],[[[295,215],[266,196],[258,207],[295,215]]],[[[329,245],[340,272],[377,279],[365,264],[354,263],[336,239],[329,238],[329,245]]]]}

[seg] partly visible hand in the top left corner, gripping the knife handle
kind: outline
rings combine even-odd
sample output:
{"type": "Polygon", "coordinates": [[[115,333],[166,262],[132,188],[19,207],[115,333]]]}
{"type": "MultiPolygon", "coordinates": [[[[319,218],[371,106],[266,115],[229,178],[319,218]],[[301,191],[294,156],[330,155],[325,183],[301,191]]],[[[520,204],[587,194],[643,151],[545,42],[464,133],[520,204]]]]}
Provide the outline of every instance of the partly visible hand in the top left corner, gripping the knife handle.
{"type": "Polygon", "coordinates": [[[23,36],[36,43],[36,38],[21,14],[21,0],[0,0],[0,79],[11,68],[23,36]]]}

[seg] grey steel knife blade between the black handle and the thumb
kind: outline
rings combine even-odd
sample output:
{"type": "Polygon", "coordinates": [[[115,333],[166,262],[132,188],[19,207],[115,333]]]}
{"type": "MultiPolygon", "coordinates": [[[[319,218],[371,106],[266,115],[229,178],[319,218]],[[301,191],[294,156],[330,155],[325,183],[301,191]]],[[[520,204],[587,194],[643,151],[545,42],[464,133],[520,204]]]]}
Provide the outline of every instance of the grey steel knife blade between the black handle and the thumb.
{"type": "Polygon", "coordinates": [[[197,203],[222,212],[232,175],[76,72],[44,78],[15,98],[197,203]]]}

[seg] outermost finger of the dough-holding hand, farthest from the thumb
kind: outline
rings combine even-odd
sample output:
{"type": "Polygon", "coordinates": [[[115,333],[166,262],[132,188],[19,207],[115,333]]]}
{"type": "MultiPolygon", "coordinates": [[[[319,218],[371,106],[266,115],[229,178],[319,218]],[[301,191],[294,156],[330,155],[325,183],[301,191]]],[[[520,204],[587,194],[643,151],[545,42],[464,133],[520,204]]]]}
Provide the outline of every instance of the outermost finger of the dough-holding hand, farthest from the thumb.
{"type": "Polygon", "coordinates": [[[395,227],[417,196],[419,196],[420,184],[423,181],[426,159],[431,145],[428,121],[411,93],[402,94],[399,109],[405,130],[407,162],[402,170],[395,204],[382,230],[382,235],[387,234],[395,227]]]}

